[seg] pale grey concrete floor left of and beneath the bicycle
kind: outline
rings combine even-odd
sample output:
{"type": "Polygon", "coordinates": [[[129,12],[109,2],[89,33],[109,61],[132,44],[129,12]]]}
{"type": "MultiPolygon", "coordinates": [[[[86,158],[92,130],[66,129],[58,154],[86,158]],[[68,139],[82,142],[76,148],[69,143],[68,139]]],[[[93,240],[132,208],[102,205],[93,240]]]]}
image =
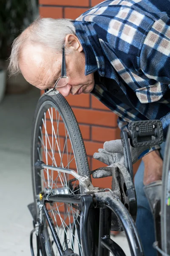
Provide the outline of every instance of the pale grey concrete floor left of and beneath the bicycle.
{"type": "MultiPolygon", "coordinates": [[[[29,235],[31,124],[40,91],[6,95],[0,103],[0,255],[31,256],[29,235]]],[[[125,235],[113,238],[130,256],[125,235]]]]}

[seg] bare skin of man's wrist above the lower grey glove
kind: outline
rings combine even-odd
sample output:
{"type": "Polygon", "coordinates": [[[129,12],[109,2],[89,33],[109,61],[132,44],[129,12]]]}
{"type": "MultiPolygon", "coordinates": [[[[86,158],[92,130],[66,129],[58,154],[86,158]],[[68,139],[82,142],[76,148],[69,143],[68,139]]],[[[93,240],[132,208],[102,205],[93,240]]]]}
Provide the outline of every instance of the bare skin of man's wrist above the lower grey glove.
{"type": "Polygon", "coordinates": [[[148,185],[153,181],[161,180],[162,178],[162,167],[163,160],[160,157],[159,151],[155,150],[144,157],[142,157],[144,161],[144,185],[148,185]]]}

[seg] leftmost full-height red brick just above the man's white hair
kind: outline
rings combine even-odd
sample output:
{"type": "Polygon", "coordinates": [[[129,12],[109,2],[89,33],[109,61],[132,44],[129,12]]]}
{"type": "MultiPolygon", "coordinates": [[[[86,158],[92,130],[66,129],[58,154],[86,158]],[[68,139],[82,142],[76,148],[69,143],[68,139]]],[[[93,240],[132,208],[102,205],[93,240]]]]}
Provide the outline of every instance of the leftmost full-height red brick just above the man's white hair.
{"type": "Polygon", "coordinates": [[[44,7],[40,6],[40,16],[43,18],[62,18],[62,7],[44,7]]]}

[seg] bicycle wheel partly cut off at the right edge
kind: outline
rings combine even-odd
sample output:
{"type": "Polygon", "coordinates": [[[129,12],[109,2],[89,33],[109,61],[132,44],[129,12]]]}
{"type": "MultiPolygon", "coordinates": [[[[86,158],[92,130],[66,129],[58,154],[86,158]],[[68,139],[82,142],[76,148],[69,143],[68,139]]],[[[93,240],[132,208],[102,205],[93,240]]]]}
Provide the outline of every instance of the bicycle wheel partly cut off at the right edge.
{"type": "Polygon", "coordinates": [[[161,247],[170,254],[170,126],[164,152],[161,197],[161,247]]]}

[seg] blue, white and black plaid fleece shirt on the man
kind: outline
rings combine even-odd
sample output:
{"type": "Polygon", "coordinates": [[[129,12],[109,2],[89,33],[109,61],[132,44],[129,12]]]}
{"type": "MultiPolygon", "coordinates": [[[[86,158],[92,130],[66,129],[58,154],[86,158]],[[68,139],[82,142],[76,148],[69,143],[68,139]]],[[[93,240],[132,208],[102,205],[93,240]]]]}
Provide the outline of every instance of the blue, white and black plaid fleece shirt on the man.
{"type": "Polygon", "coordinates": [[[164,138],[170,125],[169,0],[106,0],[74,20],[85,52],[85,75],[113,79],[121,99],[108,104],[104,87],[92,93],[118,116],[119,128],[135,120],[160,119],[164,138]]]}

